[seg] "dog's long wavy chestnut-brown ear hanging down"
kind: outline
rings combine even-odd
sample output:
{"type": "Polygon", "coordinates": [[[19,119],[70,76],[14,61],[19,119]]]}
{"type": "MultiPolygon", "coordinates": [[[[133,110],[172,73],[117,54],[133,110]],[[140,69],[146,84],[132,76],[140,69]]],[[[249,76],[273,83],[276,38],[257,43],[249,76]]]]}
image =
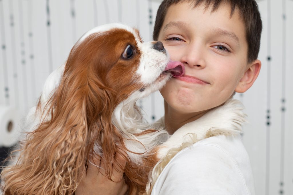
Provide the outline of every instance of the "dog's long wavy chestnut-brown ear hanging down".
{"type": "Polygon", "coordinates": [[[111,179],[112,162],[125,151],[111,122],[115,97],[94,72],[69,58],[52,96],[45,98],[45,105],[44,98],[39,99],[36,113],[41,121],[28,133],[18,162],[2,172],[4,194],[73,194],[96,144],[111,179]]]}

